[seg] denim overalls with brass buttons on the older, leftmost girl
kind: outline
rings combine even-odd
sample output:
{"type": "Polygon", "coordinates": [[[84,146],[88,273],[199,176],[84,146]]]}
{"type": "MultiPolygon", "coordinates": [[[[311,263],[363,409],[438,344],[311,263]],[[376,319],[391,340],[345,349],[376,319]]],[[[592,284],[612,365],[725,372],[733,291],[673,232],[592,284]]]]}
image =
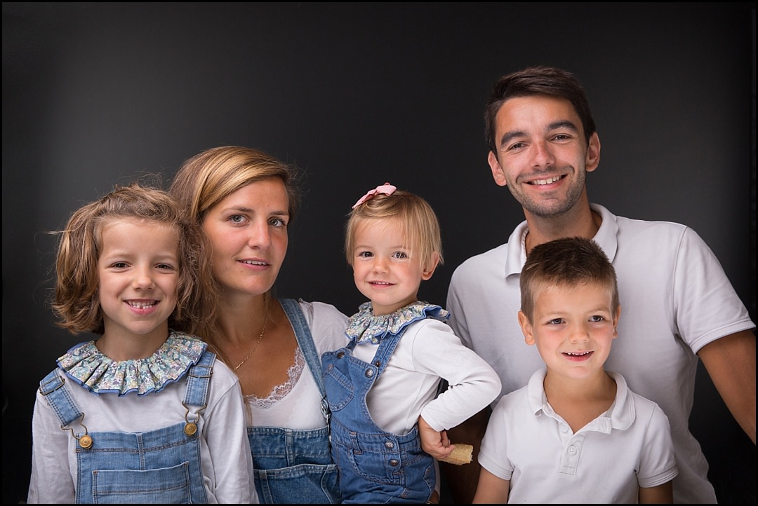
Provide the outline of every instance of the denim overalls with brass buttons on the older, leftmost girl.
{"type": "MultiPolygon", "coordinates": [[[[79,441],[77,504],[208,502],[200,468],[197,421],[207,404],[215,359],[213,353],[204,352],[186,374],[186,423],[139,433],[87,433],[85,427],[85,433],[77,435],[69,429],[79,441]]],[[[58,414],[61,429],[83,421],[84,416],[64,382],[52,371],[39,383],[40,392],[58,414]]]]}

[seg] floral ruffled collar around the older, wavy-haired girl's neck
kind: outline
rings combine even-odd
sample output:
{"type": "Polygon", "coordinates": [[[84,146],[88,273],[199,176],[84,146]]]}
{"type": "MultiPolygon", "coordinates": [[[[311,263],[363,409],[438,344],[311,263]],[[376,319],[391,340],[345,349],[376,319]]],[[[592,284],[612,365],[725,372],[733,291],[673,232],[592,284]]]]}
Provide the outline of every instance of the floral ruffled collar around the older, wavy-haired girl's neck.
{"type": "Polygon", "coordinates": [[[58,359],[58,367],[96,395],[125,396],[136,392],[145,396],[180,380],[198,362],[206,346],[197,337],[171,331],[166,342],[148,358],[116,362],[103,355],[95,341],[89,341],[69,349],[58,359]]]}

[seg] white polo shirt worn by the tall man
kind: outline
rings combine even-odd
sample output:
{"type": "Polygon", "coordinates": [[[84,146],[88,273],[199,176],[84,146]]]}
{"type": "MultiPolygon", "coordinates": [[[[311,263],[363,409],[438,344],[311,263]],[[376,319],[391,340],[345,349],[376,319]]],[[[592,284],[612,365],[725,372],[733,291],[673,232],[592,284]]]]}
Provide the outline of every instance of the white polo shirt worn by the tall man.
{"type": "MultiPolygon", "coordinates": [[[[622,306],[606,368],[623,374],[631,390],[669,417],[679,469],[674,501],[716,502],[708,464],[688,427],[695,352],[755,324],[718,259],[691,228],[613,216],[596,204],[592,209],[603,218],[594,240],[615,268],[622,306]]],[[[459,265],[448,290],[451,326],[500,375],[502,395],[525,386],[543,367],[518,325],[526,231],[522,222],[507,244],[459,265]]]]}

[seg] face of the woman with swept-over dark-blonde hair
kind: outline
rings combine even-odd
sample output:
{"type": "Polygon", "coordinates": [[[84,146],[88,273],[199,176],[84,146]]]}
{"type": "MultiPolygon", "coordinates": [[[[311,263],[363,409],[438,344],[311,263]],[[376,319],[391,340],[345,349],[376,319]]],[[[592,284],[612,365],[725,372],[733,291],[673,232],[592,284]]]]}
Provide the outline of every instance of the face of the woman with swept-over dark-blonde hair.
{"type": "Polygon", "coordinates": [[[287,254],[290,201],[284,183],[243,186],[211,207],[202,230],[213,245],[213,272],[228,295],[260,295],[274,285],[287,254]]]}

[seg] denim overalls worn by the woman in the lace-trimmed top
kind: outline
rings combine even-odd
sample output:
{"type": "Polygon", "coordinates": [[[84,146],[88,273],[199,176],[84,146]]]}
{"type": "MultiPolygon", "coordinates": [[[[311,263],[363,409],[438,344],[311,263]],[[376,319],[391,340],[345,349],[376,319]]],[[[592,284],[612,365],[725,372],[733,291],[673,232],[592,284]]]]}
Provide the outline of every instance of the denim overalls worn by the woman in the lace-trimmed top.
{"type": "Polygon", "coordinates": [[[337,466],[329,449],[329,408],[321,381],[321,361],[297,301],[280,299],[279,302],[290,319],[298,346],[321,392],[321,411],[326,424],[313,430],[248,427],[255,490],[263,504],[339,503],[337,466]]]}

